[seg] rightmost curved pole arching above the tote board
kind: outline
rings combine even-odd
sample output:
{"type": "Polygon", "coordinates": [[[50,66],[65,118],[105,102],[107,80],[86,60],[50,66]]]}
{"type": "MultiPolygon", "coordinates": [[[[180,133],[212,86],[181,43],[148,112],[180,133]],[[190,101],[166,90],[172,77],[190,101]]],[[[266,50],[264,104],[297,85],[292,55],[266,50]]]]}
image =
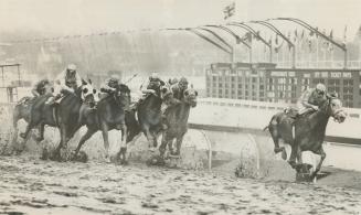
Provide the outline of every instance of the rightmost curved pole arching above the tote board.
{"type": "Polygon", "coordinates": [[[333,45],[336,45],[337,47],[339,47],[341,51],[343,51],[343,68],[347,68],[348,51],[347,51],[346,44],[340,44],[340,43],[333,41],[330,36],[325,35],[323,33],[321,33],[320,31],[318,31],[316,28],[311,26],[307,22],[305,22],[302,20],[299,20],[299,19],[295,19],[295,18],[276,18],[276,19],[272,19],[272,20],[286,20],[286,21],[290,21],[290,22],[297,23],[297,24],[306,28],[310,32],[314,32],[317,35],[321,36],[322,39],[327,40],[328,42],[332,43],[333,45]]]}

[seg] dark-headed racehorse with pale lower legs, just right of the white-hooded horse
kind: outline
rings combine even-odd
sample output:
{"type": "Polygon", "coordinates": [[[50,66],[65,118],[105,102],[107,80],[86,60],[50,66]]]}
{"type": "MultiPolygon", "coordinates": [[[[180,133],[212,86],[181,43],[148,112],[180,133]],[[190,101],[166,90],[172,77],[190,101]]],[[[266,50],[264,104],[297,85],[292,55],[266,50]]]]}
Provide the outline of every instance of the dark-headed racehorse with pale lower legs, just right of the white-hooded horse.
{"type": "Polygon", "coordinates": [[[125,163],[127,151],[126,111],[129,110],[129,104],[130,89],[125,84],[119,84],[114,93],[110,93],[107,97],[103,98],[98,103],[96,110],[84,117],[84,125],[86,125],[87,131],[81,138],[77,148],[75,149],[74,158],[76,158],[85,141],[87,141],[96,131],[102,130],[104,148],[106,150],[106,159],[108,159],[108,131],[117,129],[121,130],[121,144],[117,157],[123,155],[121,163],[125,163]]]}

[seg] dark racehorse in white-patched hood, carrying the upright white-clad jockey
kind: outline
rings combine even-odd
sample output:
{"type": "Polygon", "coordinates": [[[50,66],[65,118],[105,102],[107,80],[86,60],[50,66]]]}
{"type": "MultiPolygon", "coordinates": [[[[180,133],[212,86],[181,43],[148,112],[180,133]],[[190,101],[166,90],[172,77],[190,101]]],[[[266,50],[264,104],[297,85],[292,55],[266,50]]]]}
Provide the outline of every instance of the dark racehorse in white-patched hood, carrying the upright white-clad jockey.
{"type": "Polygon", "coordinates": [[[38,140],[44,139],[44,127],[45,125],[51,127],[57,127],[61,132],[61,141],[57,146],[54,155],[59,159],[61,158],[61,149],[66,148],[68,140],[74,136],[74,133],[81,128],[78,122],[79,108],[82,103],[94,104],[96,89],[93,88],[91,80],[86,83],[82,80],[82,86],[79,86],[75,94],[70,92],[63,92],[64,97],[60,104],[46,105],[46,100],[52,96],[51,94],[39,97],[34,100],[31,108],[30,121],[28,123],[24,133],[20,137],[26,138],[30,130],[35,126],[40,125],[40,137],[38,140]],[[82,97],[84,101],[82,101],[82,97]]]}

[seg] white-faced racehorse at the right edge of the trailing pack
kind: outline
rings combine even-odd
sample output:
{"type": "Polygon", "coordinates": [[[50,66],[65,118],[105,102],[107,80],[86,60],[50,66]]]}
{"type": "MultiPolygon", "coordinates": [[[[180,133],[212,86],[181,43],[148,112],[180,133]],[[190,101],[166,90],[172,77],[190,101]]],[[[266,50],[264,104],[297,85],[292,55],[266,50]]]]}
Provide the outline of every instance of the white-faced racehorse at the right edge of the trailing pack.
{"type": "Polygon", "coordinates": [[[180,104],[169,107],[166,111],[169,128],[163,131],[159,147],[160,157],[164,157],[167,144],[171,155],[179,157],[183,137],[188,131],[188,118],[190,109],[197,106],[198,92],[193,88],[185,89],[180,104]],[[177,140],[177,150],[173,151],[173,140],[177,140]]]}

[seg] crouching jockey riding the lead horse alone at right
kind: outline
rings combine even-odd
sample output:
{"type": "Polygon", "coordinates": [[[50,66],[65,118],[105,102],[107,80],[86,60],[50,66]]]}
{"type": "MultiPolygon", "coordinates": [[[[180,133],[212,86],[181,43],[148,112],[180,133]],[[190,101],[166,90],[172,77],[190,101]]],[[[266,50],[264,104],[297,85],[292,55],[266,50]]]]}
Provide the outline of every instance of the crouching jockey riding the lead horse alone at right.
{"type": "Polygon", "coordinates": [[[297,101],[298,115],[301,116],[309,111],[317,111],[321,101],[326,99],[326,86],[321,83],[316,88],[307,89],[297,101]]]}

